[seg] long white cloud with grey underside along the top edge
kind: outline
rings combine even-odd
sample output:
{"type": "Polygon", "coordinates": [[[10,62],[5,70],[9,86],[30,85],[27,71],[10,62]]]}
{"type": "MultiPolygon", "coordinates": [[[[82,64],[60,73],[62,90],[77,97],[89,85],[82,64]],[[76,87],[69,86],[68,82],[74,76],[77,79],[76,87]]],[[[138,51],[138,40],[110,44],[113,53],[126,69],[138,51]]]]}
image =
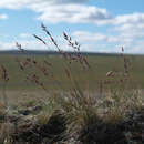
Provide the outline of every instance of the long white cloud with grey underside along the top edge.
{"type": "Polygon", "coordinates": [[[111,20],[106,9],[86,6],[89,0],[3,0],[0,8],[31,9],[39,13],[38,19],[45,22],[105,23],[111,20]]]}

